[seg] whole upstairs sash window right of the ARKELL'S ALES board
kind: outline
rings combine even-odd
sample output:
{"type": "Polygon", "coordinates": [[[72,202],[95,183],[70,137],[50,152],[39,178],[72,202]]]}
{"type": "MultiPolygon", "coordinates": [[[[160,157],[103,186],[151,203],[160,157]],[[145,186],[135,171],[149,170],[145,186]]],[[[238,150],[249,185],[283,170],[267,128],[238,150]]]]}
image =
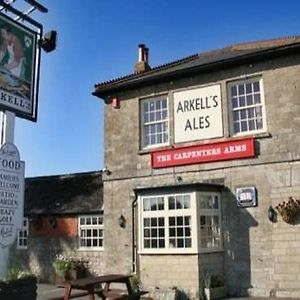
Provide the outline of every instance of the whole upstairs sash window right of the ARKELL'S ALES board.
{"type": "Polygon", "coordinates": [[[231,82],[228,85],[231,134],[243,135],[266,130],[261,78],[231,82]]]}

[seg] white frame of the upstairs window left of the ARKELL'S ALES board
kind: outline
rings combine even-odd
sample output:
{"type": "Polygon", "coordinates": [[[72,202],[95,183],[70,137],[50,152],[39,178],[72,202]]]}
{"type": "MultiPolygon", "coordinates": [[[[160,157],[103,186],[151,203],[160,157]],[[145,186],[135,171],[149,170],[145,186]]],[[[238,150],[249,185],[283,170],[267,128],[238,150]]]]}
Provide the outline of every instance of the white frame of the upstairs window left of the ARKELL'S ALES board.
{"type": "MultiPolygon", "coordinates": [[[[156,111],[159,113],[159,111],[156,111]]],[[[156,117],[155,117],[156,118],[156,117]]],[[[161,146],[166,146],[169,145],[169,139],[170,139],[170,109],[169,109],[169,100],[167,95],[161,95],[161,96],[157,96],[157,97],[151,97],[151,98],[144,98],[144,99],[140,99],[140,145],[141,145],[141,149],[152,149],[152,148],[157,148],[157,147],[161,147],[161,146]],[[147,121],[145,120],[145,110],[144,110],[144,104],[147,102],[151,102],[151,101],[161,101],[161,100],[166,100],[167,106],[166,106],[166,110],[167,110],[167,115],[165,119],[161,119],[161,120],[154,120],[154,121],[147,121]],[[167,138],[165,141],[162,142],[156,142],[156,143],[149,143],[146,144],[145,143],[145,126],[149,125],[157,125],[157,124],[163,124],[166,123],[165,126],[167,127],[166,129],[166,134],[167,134],[167,138]]],[[[155,132],[153,135],[155,135],[155,139],[157,139],[159,134],[164,134],[163,132],[155,132]]]]}

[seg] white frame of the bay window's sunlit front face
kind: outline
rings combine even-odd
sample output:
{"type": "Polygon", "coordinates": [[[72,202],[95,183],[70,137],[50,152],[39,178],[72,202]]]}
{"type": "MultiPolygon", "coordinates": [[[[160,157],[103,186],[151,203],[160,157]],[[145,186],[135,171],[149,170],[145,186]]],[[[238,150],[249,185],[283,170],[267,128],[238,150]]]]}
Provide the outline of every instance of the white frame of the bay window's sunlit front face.
{"type": "Polygon", "coordinates": [[[142,254],[182,254],[182,253],[197,253],[197,222],[196,222],[196,201],[195,201],[195,192],[182,192],[182,193],[160,193],[145,195],[139,197],[139,253],[142,254]],[[190,195],[190,208],[188,209],[168,209],[168,197],[170,196],[182,196],[190,195]],[[164,210],[159,211],[144,211],[143,209],[143,199],[144,198],[164,198],[164,210]],[[155,218],[162,217],[164,218],[164,228],[165,228],[165,248],[144,248],[144,218],[155,218]],[[175,248],[169,242],[169,218],[170,217],[190,217],[190,227],[191,227],[191,247],[184,248],[175,248]]]}

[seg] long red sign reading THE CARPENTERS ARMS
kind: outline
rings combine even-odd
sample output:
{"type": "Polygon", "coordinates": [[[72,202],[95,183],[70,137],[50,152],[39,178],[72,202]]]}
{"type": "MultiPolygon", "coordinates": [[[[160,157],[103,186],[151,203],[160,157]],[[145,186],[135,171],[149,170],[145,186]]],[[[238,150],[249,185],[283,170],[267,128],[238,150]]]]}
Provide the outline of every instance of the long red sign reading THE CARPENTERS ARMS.
{"type": "Polygon", "coordinates": [[[152,168],[166,168],[205,162],[253,157],[254,140],[240,139],[152,153],[152,168]]]}

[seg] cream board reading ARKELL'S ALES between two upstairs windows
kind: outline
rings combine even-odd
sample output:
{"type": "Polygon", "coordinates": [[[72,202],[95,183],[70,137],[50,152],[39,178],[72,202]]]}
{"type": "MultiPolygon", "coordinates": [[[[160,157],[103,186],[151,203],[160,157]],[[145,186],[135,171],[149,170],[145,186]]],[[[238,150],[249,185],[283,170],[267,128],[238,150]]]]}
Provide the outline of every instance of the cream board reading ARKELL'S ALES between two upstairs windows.
{"type": "Polygon", "coordinates": [[[223,136],[219,84],[174,93],[175,143],[223,136]]]}

